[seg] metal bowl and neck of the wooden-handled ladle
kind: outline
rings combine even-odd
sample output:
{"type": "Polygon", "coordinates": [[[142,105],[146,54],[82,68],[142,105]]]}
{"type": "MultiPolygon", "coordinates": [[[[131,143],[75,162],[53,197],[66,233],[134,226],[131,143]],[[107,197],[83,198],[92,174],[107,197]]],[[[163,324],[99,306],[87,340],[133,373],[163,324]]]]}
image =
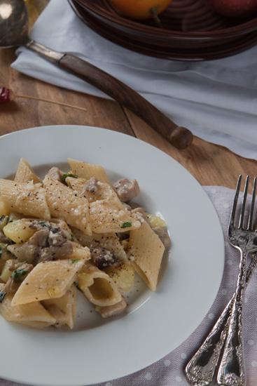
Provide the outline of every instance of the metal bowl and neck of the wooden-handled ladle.
{"type": "Polygon", "coordinates": [[[29,39],[29,18],[23,0],[0,0],[0,48],[25,45],[32,51],[59,62],[64,53],[58,53],[29,39]]]}

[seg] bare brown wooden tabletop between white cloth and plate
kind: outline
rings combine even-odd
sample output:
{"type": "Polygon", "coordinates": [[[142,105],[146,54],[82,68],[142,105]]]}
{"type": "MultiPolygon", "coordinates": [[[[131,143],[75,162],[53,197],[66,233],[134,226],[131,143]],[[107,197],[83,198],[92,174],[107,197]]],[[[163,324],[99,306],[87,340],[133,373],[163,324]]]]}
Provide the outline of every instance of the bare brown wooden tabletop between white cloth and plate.
{"type": "MultiPolygon", "coordinates": [[[[46,3],[46,0],[38,1],[41,4],[46,3]]],[[[15,60],[13,49],[0,50],[0,85],[11,88],[15,93],[85,107],[87,112],[36,100],[18,99],[8,105],[0,105],[0,135],[44,125],[100,126],[134,135],[159,147],[179,161],[202,185],[224,185],[234,188],[239,173],[257,175],[256,161],[239,157],[224,147],[199,138],[194,138],[190,148],[179,151],[117,102],[67,91],[19,74],[10,67],[13,60],[15,60]]]]}

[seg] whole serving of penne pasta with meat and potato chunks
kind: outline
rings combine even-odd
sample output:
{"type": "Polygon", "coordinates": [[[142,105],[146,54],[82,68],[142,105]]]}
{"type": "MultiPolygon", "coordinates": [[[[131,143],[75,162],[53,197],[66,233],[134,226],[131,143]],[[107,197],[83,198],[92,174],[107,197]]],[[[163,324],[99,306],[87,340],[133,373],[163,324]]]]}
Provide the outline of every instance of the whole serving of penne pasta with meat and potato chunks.
{"type": "Polygon", "coordinates": [[[33,328],[76,324],[76,293],[103,317],[127,307],[135,272],[155,291],[165,222],[135,209],[137,180],[68,159],[41,180],[25,159],[0,179],[0,313],[33,328]]]}

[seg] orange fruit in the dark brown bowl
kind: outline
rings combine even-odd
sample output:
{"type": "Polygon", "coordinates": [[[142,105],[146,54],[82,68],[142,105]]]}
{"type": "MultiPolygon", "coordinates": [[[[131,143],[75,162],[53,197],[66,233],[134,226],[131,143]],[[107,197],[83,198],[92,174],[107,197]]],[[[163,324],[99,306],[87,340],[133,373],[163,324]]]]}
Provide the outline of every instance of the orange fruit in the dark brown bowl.
{"type": "Polygon", "coordinates": [[[172,0],[109,0],[113,8],[131,19],[149,19],[164,11],[172,0]]]}

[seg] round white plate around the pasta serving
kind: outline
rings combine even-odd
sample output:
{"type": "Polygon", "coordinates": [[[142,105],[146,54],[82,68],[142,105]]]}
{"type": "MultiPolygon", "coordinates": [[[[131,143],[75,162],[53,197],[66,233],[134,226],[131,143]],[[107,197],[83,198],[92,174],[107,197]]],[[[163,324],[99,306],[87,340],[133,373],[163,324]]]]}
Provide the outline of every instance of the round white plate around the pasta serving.
{"type": "Polygon", "coordinates": [[[88,126],[4,135],[0,154],[2,177],[15,172],[20,157],[41,172],[73,157],[102,164],[111,179],[137,178],[140,202],[161,213],[172,236],[158,291],[137,288],[123,317],[102,321],[81,314],[82,322],[69,332],[36,331],[0,318],[1,378],[44,386],[92,385],[152,364],[194,331],[221,283],[224,246],[216,211],[186,169],[145,142],[88,126]]]}

